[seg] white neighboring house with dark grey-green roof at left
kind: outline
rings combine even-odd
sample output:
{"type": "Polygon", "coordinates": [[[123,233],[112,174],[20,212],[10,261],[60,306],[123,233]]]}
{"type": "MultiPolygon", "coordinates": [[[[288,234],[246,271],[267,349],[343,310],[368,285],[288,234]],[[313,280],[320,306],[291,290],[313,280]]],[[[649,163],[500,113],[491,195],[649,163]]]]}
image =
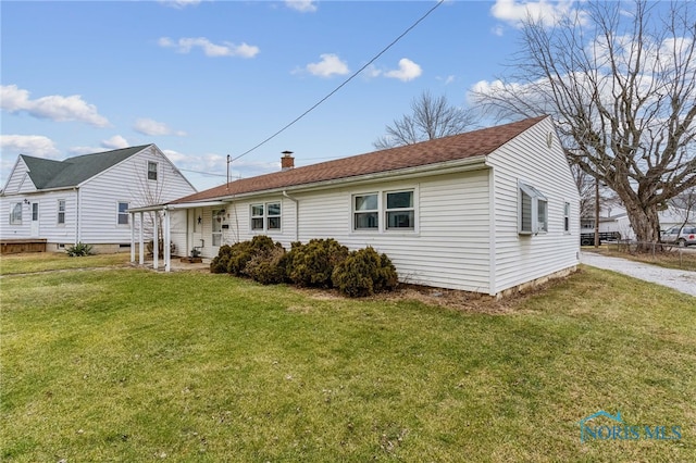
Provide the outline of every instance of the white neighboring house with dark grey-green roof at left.
{"type": "MultiPolygon", "coordinates": [[[[0,238],[42,239],[49,251],[77,242],[92,245],[97,252],[127,250],[129,208],[194,192],[154,145],[63,161],[21,154],[0,193],[0,238]]],[[[145,233],[151,232],[152,217],[145,221],[145,233]]]]}

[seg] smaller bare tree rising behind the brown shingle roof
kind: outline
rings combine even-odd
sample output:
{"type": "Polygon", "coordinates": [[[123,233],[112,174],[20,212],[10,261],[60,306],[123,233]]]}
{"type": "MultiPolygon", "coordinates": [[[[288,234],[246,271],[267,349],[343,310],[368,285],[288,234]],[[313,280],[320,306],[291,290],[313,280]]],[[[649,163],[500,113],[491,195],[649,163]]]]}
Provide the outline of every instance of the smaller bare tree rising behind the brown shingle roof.
{"type": "Polygon", "coordinates": [[[476,118],[472,111],[451,107],[447,98],[434,98],[428,91],[411,101],[412,114],[387,125],[386,135],[372,145],[376,149],[401,147],[465,132],[476,118]]]}

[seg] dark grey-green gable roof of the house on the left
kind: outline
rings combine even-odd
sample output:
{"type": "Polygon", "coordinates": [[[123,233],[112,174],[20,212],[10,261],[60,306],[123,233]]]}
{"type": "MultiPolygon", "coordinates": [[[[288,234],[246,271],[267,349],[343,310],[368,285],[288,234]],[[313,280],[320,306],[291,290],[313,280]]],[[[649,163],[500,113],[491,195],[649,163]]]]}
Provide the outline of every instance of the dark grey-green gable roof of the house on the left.
{"type": "Polygon", "coordinates": [[[150,145],[83,154],[63,161],[51,161],[20,154],[34,186],[39,189],[75,187],[107,168],[119,164],[150,145]]]}

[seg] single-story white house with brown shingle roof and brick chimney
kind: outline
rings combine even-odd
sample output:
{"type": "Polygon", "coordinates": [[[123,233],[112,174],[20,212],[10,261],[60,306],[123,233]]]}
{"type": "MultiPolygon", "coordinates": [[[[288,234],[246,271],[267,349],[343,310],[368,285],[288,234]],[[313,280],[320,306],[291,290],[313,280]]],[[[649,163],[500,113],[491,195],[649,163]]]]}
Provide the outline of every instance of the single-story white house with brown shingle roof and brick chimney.
{"type": "Polygon", "coordinates": [[[579,264],[580,198],[550,117],[297,168],[282,162],[282,172],[133,213],[165,211],[177,247],[207,258],[254,235],[286,248],[335,238],[386,253],[402,281],[488,295],[579,264]]]}

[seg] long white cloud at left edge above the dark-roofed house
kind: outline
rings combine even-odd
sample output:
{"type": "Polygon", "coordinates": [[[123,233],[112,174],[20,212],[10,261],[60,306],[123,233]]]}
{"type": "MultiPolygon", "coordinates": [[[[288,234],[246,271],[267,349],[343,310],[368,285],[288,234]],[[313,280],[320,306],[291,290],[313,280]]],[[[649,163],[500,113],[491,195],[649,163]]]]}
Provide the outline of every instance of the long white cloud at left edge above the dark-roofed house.
{"type": "Polygon", "coordinates": [[[87,103],[79,95],[62,97],[52,95],[36,100],[29,98],[29,91],[16,85],[0,86],[0,108],[10,112],[26,112],[38,117],[55,122],[84,122],[97,127],[109,126],[109,120],[100,115],[97,107],[87,103]]]}

